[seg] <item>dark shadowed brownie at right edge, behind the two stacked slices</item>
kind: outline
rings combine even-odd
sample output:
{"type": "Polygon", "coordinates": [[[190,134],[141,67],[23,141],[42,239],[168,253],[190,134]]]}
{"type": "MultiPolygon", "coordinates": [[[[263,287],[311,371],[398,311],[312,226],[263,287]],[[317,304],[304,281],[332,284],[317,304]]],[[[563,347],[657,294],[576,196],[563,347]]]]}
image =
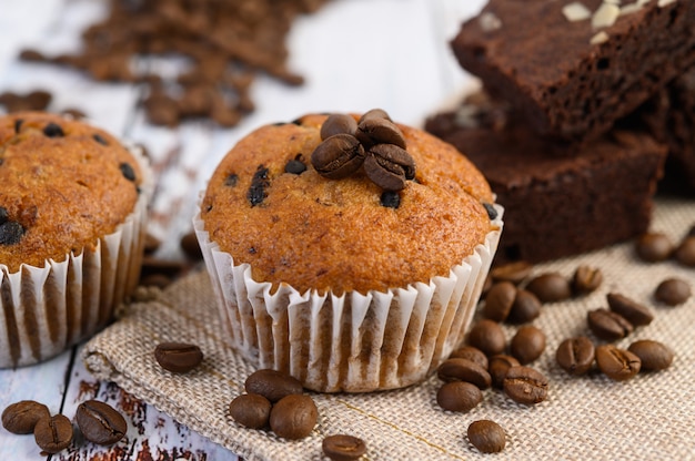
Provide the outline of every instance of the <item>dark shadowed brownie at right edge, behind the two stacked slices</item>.
{"type": "Polygon", "coordinates": [[[618,126],[646,129],[668,146],[659,189],[695,194],[695,66],[620,121],[618,126]]]}

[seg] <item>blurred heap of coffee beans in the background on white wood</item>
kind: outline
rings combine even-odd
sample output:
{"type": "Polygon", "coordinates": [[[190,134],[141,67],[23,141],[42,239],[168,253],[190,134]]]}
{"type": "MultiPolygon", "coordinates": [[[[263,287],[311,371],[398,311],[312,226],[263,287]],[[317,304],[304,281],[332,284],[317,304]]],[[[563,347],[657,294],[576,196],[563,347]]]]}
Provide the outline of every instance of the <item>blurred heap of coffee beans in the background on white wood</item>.
{"type": "Polygon", "coordinates": [[[234,126],[254,109],[250,86],[258,72],[303,83],[286,68],[286,35],[298,16],[325,1],[111,1],[108,17],[83,32],[80,53],[44,57],[23,50],[20,59],[77,68],[98,81],[140,83],[147,86],[143,107],[154,124],[207,117],[234,126]],[[191,62],[173,81],[133,72],[141,57],[171,54],[191,62]]]}

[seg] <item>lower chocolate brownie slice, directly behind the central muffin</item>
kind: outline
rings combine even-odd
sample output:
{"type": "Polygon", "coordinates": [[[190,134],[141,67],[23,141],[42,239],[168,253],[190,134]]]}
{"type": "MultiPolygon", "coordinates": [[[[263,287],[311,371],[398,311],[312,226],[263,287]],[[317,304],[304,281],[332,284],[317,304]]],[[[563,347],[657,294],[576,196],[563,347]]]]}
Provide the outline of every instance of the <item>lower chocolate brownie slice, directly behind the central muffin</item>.
{"type": "Polygon", "coordinates": [[[480,94],[425,129],[464,153],[505,207],[496,264],[584,253],[648,228],[666,147],[647,134],[614,130],[575,155],[556,155],[563,144],[480,94]]]}

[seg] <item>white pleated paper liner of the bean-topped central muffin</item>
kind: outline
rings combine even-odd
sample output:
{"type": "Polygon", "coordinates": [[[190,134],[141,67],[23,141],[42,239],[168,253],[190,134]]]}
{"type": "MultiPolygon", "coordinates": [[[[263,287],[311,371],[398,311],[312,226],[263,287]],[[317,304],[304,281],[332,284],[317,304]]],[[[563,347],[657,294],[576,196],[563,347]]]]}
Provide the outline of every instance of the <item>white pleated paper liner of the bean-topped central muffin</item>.
{"type": "Polygon", "coordinates": [[[249,264],[193,227],[228,325],[230,346],[259,368],[285,371],[321,392],[367,392],[425,379],[464,339],[497,248],[496,230],[447,277],[387,291],[335,296],[258,283],[249,264]]]}

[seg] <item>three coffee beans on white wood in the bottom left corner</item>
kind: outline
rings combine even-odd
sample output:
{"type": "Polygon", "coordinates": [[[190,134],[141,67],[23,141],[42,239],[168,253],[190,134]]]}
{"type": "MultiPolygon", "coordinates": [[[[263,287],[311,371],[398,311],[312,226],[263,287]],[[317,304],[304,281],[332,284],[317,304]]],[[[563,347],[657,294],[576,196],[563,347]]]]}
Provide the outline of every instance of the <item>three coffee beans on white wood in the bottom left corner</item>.
{"type": "MultiPolygon", "coordinates": [[[[123,416],[98,400],[80,403],[74,419],[84,439],[100,445],[112,445],[128,431],[123,416]]],[[[33,433],[37,445],[44,453],[58,453],[73,441],[70,419],[60,413],[51,414],[47,406],[33,400],[8,406],[2,412],[2,427],[17,434],[33,433]]]]}

